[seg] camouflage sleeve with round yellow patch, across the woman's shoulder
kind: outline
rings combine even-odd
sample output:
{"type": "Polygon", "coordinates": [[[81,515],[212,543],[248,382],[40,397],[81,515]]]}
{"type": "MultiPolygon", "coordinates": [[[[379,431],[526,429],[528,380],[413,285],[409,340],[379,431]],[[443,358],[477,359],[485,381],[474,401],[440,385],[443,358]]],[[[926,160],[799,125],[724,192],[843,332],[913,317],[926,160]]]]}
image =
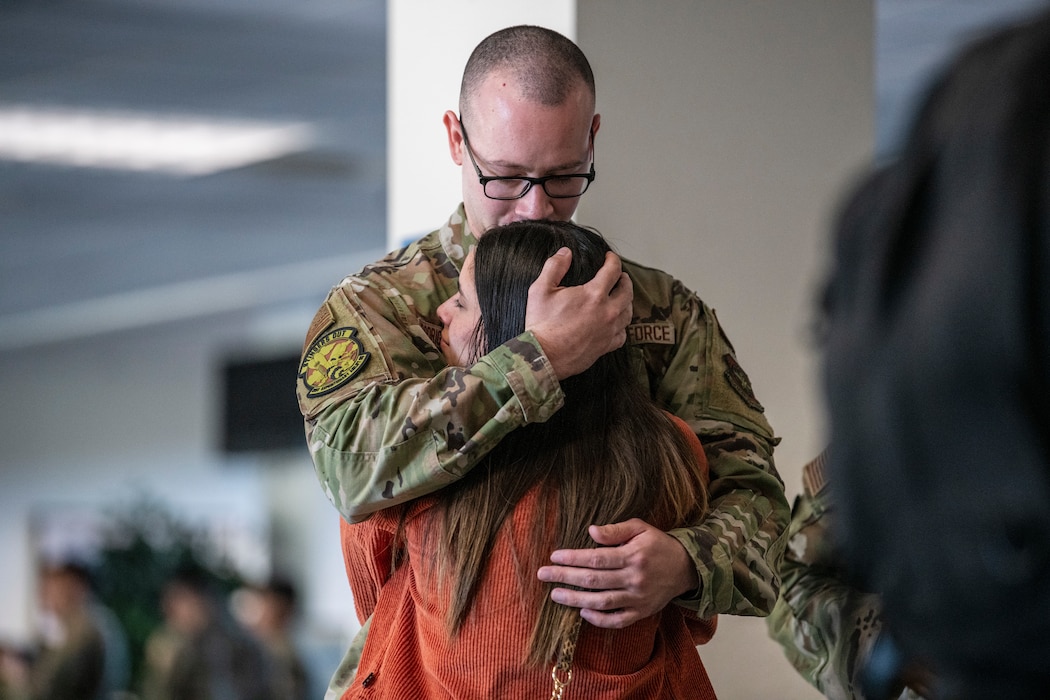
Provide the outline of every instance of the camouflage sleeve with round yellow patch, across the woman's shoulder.
{"type": "Polygon", "coordinates": [[[411,299],[357,278],[311,325],[297,395],[317,476],[350,523],[460,479],[563,401],[531,333],[446,367],[411,299]]]}

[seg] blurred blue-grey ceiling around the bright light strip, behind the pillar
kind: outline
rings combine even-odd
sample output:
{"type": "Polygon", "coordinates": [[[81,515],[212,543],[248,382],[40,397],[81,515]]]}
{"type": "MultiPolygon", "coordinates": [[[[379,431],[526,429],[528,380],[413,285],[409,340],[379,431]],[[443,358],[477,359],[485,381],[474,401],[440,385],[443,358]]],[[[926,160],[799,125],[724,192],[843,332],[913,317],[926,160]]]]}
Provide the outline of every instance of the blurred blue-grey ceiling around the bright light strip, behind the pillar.
{"type": "MultiPolygon", "coordinates": [[[[1045,6],[877,0],[878,150],[960,42],[1045,6]]],[[[309,127],[300,150],[195,177],[0,160],[0,352],[231,304],[316,305],[385,246],[384,61],[382,0],[0,5],[0,110],[309,127]]]]}

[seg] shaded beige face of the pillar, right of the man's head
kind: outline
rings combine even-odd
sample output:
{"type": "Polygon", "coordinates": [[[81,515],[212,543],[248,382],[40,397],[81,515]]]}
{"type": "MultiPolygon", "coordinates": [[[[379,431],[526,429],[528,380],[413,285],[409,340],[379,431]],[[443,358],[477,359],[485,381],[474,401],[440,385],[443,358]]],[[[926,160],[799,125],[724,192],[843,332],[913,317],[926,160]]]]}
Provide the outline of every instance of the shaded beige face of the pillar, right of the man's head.
{"type": "MultiPolygon", "coordinates": [[[[718,312],[778,436],[789,497],[824,444],[811,327],[830,218],[874,144],[872,0],[580,0],[597,178],[578,212],[718,312]]],[[[763,620],[700,655],[719,698],[820,698],[763,620]]]]}

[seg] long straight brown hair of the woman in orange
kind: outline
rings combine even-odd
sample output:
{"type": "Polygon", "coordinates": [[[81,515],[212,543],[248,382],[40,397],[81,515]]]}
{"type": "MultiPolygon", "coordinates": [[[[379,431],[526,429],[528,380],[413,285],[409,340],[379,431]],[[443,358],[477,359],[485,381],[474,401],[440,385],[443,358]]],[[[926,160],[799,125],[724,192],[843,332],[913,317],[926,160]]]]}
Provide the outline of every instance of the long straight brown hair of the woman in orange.
{"type": "MultiPolygon", "coordinates": [[[[475,355],[525,330],[528,288],[555,251],[572,263],[563,287],[593,278],[610,250],[596,232],[566,221],[521,221],[486,232],[475,252],[481,321],[475,355]]],[[[591,548],[590,525],[638,517],[668,530],[707,509],[698,459],[686,436],[637,381],[624,346],[562,382],[565,405],[544,423],[513,430],[470,473],[442,492],[443,527],[430,549],[450,587],[455,634],[470,613],[501,526],[532,488],[531,536],[514,544],[524,599],[539,609],[527,662],[553,658],[579,611],[553,602],[536,571],[550,552],[591,548]]]]}

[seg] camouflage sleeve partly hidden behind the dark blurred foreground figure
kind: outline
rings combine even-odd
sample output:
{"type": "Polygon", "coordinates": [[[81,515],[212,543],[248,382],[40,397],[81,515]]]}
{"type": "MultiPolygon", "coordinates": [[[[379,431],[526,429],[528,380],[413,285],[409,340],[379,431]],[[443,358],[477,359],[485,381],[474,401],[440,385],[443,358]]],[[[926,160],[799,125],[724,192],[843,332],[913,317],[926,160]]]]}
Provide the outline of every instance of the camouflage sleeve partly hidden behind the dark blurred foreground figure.
{"type": "MultiPolygon", "coordinates": [[[[803,468],[788,528],[780,599],[765,622],[796,671],[831,700],[864,700],[861,671],[882,631],[879,596],[849,586],[833,544],[824,464],[803,468]]],[[[921,700],[901,688],[900,700],[921,700]]]]}

